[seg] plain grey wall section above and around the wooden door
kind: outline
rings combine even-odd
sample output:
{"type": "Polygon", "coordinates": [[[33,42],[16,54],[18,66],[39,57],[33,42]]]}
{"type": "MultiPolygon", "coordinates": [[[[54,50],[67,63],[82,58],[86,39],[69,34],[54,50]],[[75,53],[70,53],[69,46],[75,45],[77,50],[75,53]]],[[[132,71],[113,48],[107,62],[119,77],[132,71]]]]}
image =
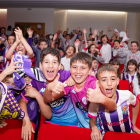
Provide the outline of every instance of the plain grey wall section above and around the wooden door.
{"type": "Polygon", "coordinates": [[[15,22],[41,22],[45,23],[45,32],[53,33],[53,8],[8,8],[7,25],[15,26],[15,22]]]}

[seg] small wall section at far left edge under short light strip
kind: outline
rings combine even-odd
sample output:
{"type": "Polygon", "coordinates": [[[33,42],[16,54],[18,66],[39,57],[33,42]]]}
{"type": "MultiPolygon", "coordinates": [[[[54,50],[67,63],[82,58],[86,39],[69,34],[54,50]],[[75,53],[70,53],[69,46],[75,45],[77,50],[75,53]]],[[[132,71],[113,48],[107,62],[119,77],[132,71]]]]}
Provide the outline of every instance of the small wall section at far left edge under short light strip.
{"type": "Polygon", "coordinates": [[[0,27],[7,29],[7,9],[0,9],[0,27]]]}

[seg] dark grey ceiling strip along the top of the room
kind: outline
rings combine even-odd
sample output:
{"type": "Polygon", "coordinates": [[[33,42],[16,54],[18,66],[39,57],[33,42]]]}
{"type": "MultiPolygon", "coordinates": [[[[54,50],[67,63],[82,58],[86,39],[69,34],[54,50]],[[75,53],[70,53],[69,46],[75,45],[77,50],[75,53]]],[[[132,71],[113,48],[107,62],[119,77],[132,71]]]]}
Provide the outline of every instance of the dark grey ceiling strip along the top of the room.
{"type": "Polygon", "coordinates": [[[140,0],[0,0],[0,8],[58,8],[139,12],[140,0]]]}

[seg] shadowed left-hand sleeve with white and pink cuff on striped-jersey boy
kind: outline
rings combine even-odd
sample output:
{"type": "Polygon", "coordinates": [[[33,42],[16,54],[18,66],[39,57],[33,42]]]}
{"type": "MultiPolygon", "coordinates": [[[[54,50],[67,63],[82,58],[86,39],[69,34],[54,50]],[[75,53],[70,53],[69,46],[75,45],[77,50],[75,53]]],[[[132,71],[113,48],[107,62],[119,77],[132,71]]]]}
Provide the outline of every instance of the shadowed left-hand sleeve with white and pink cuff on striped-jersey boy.
{"type": "Polygon", "coordinates": [[[88,116],[90,118],[97,118],[99,105],[96,103],[90,103],[88,107],[88,116]]]}

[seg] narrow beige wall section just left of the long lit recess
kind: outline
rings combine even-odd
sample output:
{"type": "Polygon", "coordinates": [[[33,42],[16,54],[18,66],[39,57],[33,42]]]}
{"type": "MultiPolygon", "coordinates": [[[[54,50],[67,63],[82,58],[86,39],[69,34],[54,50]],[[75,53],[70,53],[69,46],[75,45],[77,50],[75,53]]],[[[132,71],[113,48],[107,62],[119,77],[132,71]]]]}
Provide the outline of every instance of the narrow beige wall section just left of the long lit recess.
{"type": "Polygon", "coordinates": [[[57,32],[58,26],[60,30],[66,30],[67,10],[55,9],[54,10],[54,33],[57,32]]]}

